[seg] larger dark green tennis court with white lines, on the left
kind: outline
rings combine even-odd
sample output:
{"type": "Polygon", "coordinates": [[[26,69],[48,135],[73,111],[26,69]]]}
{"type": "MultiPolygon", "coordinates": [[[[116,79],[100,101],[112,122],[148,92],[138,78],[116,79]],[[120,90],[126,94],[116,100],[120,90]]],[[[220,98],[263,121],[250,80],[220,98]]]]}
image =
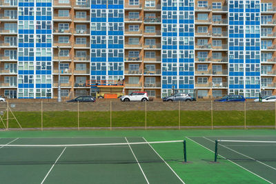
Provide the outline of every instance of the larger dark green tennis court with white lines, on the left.
{"type": "MultiPolygon", "coordinates": [[[[1,138],[0,144],[0,183],[184,183],[168,165],[183,158],[165,161],[143,137],[1,138]]],[[[168,144],[183,152],[181,141],[168,144]]]]}

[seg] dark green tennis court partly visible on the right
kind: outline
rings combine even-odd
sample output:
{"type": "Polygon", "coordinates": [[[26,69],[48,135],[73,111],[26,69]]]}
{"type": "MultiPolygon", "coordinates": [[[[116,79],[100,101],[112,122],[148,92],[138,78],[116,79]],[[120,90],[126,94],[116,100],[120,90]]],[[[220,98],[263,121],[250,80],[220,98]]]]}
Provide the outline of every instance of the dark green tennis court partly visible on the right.
{"type": "Polygon", "coordinates": [[[215,152],[215,141],[218,140],[218,164],[221,160],[228,160],[268,183],[276,183],[276,136],[199,136],[187,139],[211,152],[215,152]]]}

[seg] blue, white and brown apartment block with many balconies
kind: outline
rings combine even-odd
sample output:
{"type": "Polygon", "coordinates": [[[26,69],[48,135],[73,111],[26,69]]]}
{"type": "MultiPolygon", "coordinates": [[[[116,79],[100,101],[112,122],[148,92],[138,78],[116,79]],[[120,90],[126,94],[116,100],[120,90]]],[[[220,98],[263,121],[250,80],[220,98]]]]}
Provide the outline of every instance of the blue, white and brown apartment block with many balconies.
{"type": "Polygon", "coordinates": [[[0,95],[276,94],[276,1],[1,0],[0,95]],[[59,65],[60,62],[60,65],[59,65]],[[59,69],[60,67],[60,69],[59,69]]]}

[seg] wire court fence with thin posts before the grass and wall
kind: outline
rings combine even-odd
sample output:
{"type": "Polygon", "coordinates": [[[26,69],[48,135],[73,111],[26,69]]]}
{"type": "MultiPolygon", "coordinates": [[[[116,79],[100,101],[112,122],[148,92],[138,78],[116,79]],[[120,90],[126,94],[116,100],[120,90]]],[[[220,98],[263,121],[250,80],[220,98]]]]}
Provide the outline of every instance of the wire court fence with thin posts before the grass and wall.
{"type": "Polygon", "coordinates": [[[0,103],[1,130],[276,129],[276,102],[0,103]]]}

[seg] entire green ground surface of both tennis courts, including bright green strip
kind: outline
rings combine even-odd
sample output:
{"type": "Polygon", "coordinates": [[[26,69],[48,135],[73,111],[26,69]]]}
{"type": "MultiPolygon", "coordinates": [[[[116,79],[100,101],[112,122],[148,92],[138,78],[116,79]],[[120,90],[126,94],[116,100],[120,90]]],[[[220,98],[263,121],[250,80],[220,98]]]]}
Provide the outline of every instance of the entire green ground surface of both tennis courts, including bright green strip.
{"type": "Polygon", "coordinates": [[[276,141],[276,130],[0,132],[0,183],[276,183],[275,143],[225,143],[214,163],[217,139],[276,141]],[[188,163],[183,143],[148,143],[176,140],[188,163]]]}

